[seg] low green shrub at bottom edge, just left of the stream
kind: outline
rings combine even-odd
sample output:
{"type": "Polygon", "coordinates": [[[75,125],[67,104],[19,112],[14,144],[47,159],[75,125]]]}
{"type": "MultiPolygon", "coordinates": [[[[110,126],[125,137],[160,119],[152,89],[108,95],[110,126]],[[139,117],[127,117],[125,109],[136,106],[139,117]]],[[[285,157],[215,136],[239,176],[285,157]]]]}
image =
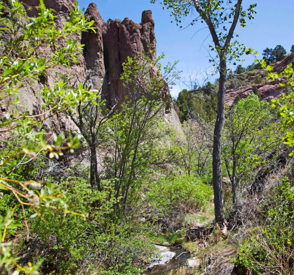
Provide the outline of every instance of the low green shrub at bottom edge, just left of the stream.
{"type": "MultiPolygon", "coordinates": [[[[148,231],[148,230],[147,230],[148,231]]],[[[141,274],[143,264],[153,255],[154,246],[142,237],[138,224],[116,221],[97,238],[93,259],[98,263],[98,274],[141,274]]],[[[146,234],[146,228],[144,233],[146,234]]]]}

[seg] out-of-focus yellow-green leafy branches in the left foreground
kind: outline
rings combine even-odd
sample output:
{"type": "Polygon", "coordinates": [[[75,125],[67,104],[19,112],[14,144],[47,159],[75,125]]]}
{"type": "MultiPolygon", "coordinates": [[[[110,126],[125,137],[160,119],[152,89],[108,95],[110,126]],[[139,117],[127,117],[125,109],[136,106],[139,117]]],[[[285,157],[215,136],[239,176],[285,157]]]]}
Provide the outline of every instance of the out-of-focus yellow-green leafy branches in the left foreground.
{"type": "MultiPolygon", "coordinates": [[[[13,135],[23,141],[23,149],[17,154],[9,152],[3,156],[0,164],[0,188],[3,193],[12,193],[15,197],[10,211],[6,218],[0,222],[1,255],[0,272],[8,272],[11,264],[16,265],[15,274],[23,272],[26,274],[38,274],[38,264],[29,263],[27,267],[18,264],[17,259],[10,251],[10,242],[5,242],[8,229],[15,229],[18,225],[13,224],[11,217],[20,205],[23,210],[24,223],[29,234],[29,228],[25,216],[25,206],[30,206],[35,210],[33,216],[42,216],[50,209],[57,209],[52,203],[59,201],[60,208],[64,214],[69,213],[66,203],[62,200],[60,193],[53,185],[43,186],[39,182],[22,180],[21,176],[13,173],[15,167],[29,162],[40,153],[48,153],[50,158],[58,158],[62,155],[62,150],[73,151],[79,145],[77,137],[64,139],[64,136],[54,135],[54,144],[47,143],[41,123],[45,119],[63,112],[66,109],[74,108],[79,102],[86,102],[95,99],[95,93],[90,93],[78,85],[77,89],[67,89],[66,85],[59,81],[54,87],[45,85],[41,91],[44,97],[44,112],[40,115],[30,115],[28,111],[20,113],[16,106],[18,102],[17,93],[19,87],[26,84],[27,79],[39,79],[48,69],[54,66],[70,67],[76,62],[76,58],[81,54],[82,46],[76,40],[71,39],[71,35],[76,32],[93,29],[93,22],[86,22],[81,11],[78,10],[77,3],[73,6],[69,20],[63,28],[56,29],[53,21],[55,19],[54,10],[47,10],[42,0],[40,0],[39,16],[34,18],[22,18],[24,9],[19,1],[0,2],[0,32],[9,34],[11,39],[4,45],[4,52],[0,58],[0,97],[2,100],[8,96],[12,99],[10,112],[3,115],[0,124],[1,134],[13,135]],[[64,47],[57,45],[64,44],[64,47]],[[44,53],[50,48],[56,47],[55,53],[45,58],[44,53]],[[45,117],[45,118],[44,118],[45,117]],[[65,146],[62,146],[67,142],[65,146]],[[17,156],[22,156],[21,160],[13,167],[11,162],[17,156]],[[9,169],[6,169],[9,168],[9,169]]],[[[81,215],[84,216],[84,215],[81,215]]],[[[85,216],[84,216],[85,217],[85,216]]],[[[28,235],[27,235],[28,236],[28,235]]]]}

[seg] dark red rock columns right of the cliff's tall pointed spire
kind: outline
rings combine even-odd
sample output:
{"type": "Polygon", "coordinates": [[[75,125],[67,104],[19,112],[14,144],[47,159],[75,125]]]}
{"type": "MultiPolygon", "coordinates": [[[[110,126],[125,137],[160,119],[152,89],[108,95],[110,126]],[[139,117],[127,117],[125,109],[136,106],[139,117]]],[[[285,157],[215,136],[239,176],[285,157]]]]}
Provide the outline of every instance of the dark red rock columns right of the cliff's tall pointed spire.
{"type": "MultiPolygon", "coordinates": [[[[127,95],[127,89],[123,87],[119,79],[122,73],[122,63],[126,61],[126,58],[128,56],[135,57],[143,51],[152,52],[152,49],[156,49],[154,22],[152,25],[150,20],[143,20],[145,13],[146,11],[143,11],[143,24],[136,24],[132,20],[125,18],[122,22],[120,20],[108,20],[103,26],[106,81],[102,88],[102,94],[108,95],[110,106],[117,99],[120,102],[123,101],[127,95]]],[[[87,42],[85,42],[85,47],[88,47],[87,42]]],[[[155,54],[153,54],[153,58],[155,58],[155,54]]]]}

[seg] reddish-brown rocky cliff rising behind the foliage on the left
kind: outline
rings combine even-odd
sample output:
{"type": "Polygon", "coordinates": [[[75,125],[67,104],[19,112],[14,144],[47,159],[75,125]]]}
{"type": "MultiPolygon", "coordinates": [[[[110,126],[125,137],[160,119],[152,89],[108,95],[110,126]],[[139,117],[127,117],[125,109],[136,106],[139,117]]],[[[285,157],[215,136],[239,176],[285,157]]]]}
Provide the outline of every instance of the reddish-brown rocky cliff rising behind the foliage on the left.
{"type": "MultiPolygon", "coordinates": [[[[39,0],[22,0],[28,16],[37,16],[39,0]]],[[[71,6],[74,0],[44,0],[46,8],[52,8],[56,11],[55,25],[62,27],[64,18],[68,18],[71,6]]],[[[34,80],[33,85],[25,85],[21,88],[19,100],[21,105],[28,107],[29,113],[41,113],[43,104],[41,96],[38,94],[44,87],[44,84],[53,87],[53,83],[58,81],[62,75],[68,76],[70,82],[86,83],[91,80],[93,88],[102,89],[102,95],[106,99],[109,107],[118,100],[120,103],[124,100],[127,90],[123,87],[120,80],[122,72],[122,63],[128,56],[134,57],[141,54],[142,51],[152,52],[156,49],[156,39],[154,34],[154,21],[150,10],[143,11],[140,24],[125,18],[121,20],[108,20],[104,22],[101,18],[95,3],[91,3],[85,12],[87,20],[93,20],[97,28],[93,31],[76,34],[73,38],[78,39],[83,47],[83,54],[78,58],[77,64],[73,64],[70,69],[54,68],[46,72],[39,81],[34,80]]],[[[9,39],[7,37],[6,39],[9,39]]],[[[49,56],[54,49],[50,49],[46,54],[49,56]]],[[[1,49],[0,49],[1,51],[1,49]]],[[[153,58],[156,54],[153,52],[153,58]]],[[[169,95],[166,88],[161,93],[162,97],[169,95]]],[[[163,114],[165,120],[181,127],[178,115],[173,106],[163,114]]],[[[54,127],[61,130],[66,124],[73,124],[66,119],[57,119],[49,122],[48,127],[54,127]],[[53,125],[52,125],[53,124],[53,125]]]]}

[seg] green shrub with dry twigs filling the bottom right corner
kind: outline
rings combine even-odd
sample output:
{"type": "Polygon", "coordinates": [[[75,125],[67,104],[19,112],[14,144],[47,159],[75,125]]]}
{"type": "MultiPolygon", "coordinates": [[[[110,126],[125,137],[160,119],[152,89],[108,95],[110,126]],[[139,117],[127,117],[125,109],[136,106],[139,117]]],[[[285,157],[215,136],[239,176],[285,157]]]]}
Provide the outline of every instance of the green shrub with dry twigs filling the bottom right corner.
{"type": "Polygon", "coordinates": [[[252,231],[239,249],[236,263],[250,274],[293,274],[294,189],[288,178],[265,205],[262,227],[252,231]]]}

